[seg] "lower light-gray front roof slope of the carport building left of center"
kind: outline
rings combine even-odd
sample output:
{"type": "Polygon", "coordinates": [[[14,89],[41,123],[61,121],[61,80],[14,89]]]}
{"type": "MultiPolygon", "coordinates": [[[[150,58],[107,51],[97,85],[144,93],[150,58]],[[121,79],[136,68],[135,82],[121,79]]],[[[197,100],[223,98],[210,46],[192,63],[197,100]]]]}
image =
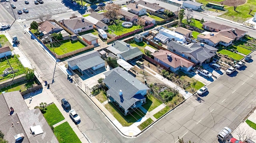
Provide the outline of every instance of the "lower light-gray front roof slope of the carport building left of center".
{"type": "Polygon", "coordinates": [[[91,67],[100,65],[102,63],[105,63],[105,61],[101,59],[99,56],[95,56],[84,61],[76,61],[76,65],[81,71],[90,69],[91,67]]]}

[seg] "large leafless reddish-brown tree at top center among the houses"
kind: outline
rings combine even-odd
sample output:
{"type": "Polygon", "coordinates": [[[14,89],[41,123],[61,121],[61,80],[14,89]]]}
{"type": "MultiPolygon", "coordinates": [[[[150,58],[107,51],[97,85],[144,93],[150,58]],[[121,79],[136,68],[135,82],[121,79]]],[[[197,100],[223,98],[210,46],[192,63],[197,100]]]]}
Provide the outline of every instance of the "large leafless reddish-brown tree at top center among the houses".
{"type": "Polygon", "coordinates": [[[117,20],[117,17],[121,15],[120,6],[118,4],[107,4],[105,10],[108,12],[104,13],[104,16],[110,20],[117,20]]]}

